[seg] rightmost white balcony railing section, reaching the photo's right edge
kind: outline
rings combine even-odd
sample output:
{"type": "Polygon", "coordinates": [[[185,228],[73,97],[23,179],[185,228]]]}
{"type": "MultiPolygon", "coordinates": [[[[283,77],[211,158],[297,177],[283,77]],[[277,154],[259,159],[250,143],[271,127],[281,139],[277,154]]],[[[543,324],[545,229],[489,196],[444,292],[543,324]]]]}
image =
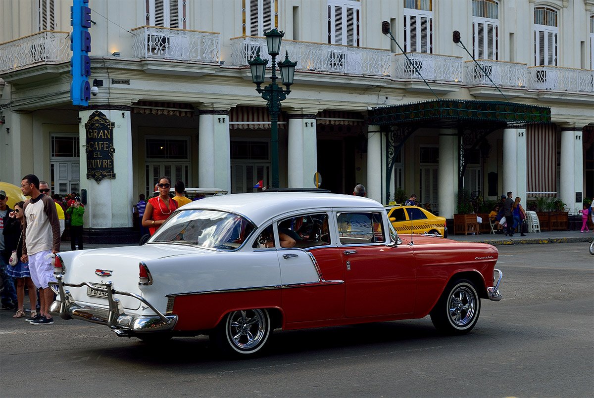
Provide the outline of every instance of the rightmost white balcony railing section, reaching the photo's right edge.
{"type": "Polygon", "coordinates": [[[530,66],[528,71],[530,74],[528,88],[532,90],[594,93],[594,71],[559,66],[530,66]]]}

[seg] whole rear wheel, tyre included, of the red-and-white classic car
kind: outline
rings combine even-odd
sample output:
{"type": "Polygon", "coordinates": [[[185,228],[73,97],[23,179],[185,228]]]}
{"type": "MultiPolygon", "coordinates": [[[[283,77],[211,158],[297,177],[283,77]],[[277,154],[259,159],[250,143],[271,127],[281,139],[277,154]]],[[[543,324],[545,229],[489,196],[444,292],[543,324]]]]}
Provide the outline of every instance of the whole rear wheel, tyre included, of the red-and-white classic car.
{"type": "Polygon", "coordinates": [[[226,354],[250,356],[261,352],[271,332],[268,310],[241,310],[227,314],[211,337],[226,354]]]}

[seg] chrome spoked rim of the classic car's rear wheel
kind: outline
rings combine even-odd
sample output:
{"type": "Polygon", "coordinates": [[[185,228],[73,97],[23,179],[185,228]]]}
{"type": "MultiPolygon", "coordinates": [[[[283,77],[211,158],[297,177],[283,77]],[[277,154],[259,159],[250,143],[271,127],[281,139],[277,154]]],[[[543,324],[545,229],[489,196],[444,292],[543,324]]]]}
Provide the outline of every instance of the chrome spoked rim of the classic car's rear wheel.
{"type": "Polygon", "coordinates": [[[229,314],[229,339],[239,349],[257,347],[266,338],[266,328],[266,317],[262,310],[235,311],[229,314]]]}

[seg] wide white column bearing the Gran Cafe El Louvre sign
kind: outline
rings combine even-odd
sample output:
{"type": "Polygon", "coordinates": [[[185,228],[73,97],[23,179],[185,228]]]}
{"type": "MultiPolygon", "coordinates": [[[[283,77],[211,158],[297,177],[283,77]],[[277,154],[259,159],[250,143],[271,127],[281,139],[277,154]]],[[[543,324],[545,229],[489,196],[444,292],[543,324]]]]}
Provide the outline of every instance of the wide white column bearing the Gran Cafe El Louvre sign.
{"type": "Polygon", "coordinates": [[[97,240],[106,243],[112,243],[112,241],[116,243],[114,240],[118,240],[117,228],[126,228],[125,231],[128,231],[128,228],[132,227],[132,126],[129,107],[106,106],[106,108],[108,109],[81,110],[78,113],[81,117],[79,125],[80,186],[81,189],[87,190],[84,227],[91,230],[109,228],[103,232],[92,231],[90,233],[91,241],[97,237],[97,240]],[[99,132],[97,126],[93,125],[92,118],[102,117],[102,115],[113,123],[111,137],[108,136],[109,133],[99,132]],[[109,147],[111,139],[113,140],[113,149],[115,149],[113,152],[115,178],[103,179],[97,183],[96,180],[87,176],[87,172],[91,171],[92,173],[96,169],[97,161],[111,161],[106,151],[101,150],[104,148],[103,145],[109,147]]]}

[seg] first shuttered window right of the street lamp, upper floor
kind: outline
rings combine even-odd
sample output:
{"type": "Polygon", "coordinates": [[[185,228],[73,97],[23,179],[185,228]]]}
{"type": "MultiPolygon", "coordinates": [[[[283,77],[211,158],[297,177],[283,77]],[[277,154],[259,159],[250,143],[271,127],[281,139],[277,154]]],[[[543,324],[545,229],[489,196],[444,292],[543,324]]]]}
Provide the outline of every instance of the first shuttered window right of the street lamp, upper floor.
{"type": "Polygon", "coordinates": [[[361,4],[354,0],[328,0],[328,43],[360,45],[361,4]]]}

